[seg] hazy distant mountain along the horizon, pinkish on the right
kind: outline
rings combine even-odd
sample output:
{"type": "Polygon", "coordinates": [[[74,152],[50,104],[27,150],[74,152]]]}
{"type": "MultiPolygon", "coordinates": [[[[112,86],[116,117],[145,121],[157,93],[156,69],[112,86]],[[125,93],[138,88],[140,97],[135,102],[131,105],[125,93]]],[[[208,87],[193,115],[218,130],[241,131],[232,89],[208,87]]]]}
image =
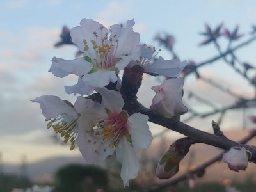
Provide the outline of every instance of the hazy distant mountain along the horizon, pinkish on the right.
{"type": "MultiPolygon", "coordinates": [[[[248,133],[247,131],[228,131],[224,132],[225,136],[228,138],[238,141],[241,138],[245,137],[248,133]]],[[[163,145],[163,143],[159,143],[160,141],[154,141],[152,146],[148,150],[144,150],[143,153],[146,152],[148,157],[154,157],[159,159],[161,155],[159,155],[159,151],[163,152],[168,149],[168,145],[170,145],[173,141],[167,141],[163,145]],[[161,149],[159,149],[159,145],[161,145],[161,149]],[[158,156],[157,156],[158,154],[158,156]]],[[[256,140],[253,138],[248,144],[256,145],[256,140]]],[[[196,144],[191,147],[187,156],[182,160],[180,164],[180,170],[177,176],[184,173],[187,169],[189,159],[192,160],[192,166],[198,166],[208,159],[219,154],[221,151],[219,148],[212,147],[209,145],[204,144],[196,144]],[[191,154],[193,154],[193,158],[191,158],[191,154]]],[[[141,154],[138,155],[139,157],[141,154]]],[[[85,164],[83,156],[58,156],[58,157],[51,157],[47,159],[42,159],[41,161],[36,161],[33,163],[28,164],[28,175],[34,180],[37,181],[51,181],[52,175],[60,168],[66,164],[71,163],[79,163],[85,164]]],[[[7,173],[19,173],[20,172],[20,165],[17,164],[8,164],[4,163],[4,172],[7,173]]],[[[222,161],[220,163],[215,163],[209,168],[207,168],[205,176],[200,180],[200,182],[212,182],[218,181],[221,182],[224,179],[231,179],[231,180],[239,180],[243,181],[250,177],[250,179],[256,179],[256,164],[249,163],[248,169],[243,172],[233,172],[229,170],[227,164],[224,164],[222,161]]]]}

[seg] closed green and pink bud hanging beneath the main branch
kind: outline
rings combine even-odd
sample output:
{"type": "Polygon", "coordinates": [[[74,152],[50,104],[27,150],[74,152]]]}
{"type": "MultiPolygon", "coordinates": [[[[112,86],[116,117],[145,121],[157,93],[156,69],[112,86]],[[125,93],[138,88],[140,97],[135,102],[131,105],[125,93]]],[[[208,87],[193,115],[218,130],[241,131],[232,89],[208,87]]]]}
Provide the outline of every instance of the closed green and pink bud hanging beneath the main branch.
{"type": "Polygon", "coordinates": [[[188,153],[191,144],[192,140],[189,138],[182,138],[172,143],[166,154],[161,157],[157,164],[156,176],[159,179],[168,179],[175,175],[179,171],[180,161],[188,153]]]}

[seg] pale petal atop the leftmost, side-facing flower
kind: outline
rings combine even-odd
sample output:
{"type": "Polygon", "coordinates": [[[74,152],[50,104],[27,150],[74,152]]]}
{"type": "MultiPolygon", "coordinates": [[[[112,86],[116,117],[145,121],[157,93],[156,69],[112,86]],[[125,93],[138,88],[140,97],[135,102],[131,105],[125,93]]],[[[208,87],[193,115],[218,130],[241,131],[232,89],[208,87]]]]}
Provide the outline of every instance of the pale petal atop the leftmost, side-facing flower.
{"type": "Polygon", "coordinates": [[[60,97],[53,95],[43,95],[37,97],[33,102],[38,102],[42,109],[43,115],[46,118],[55,118],[61,114],[67,114],[77,118],[76,109],[60,99],[60,97]]]}

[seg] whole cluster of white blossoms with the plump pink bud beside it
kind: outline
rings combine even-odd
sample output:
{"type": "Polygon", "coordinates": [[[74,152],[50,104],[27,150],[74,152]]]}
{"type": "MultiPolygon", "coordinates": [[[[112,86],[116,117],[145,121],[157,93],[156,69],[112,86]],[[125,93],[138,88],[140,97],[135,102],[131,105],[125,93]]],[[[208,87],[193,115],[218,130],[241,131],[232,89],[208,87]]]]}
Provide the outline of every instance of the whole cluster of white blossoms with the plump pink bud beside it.
{"type": "Polygon", "coordinates": [[[184,79],[177,78],[186,67],[186,61],[164,60],[161,56],[156,60],[161,50],[140,44],[134,24],[132,19],[127,21],[126,28],[115,24],[108,30],[92,19],[81,20],[81,26],[72,28],[70,35],[83,56],[74,60],[54,57],[49,70],[60,78],[76,75],[77,84],[65,86],[65,91],[80,96],[74,105],[53,95],[32,100],[40,104],[47,128],[52,127],[60,134],[64,143],[70,142],[70,150],[77,146],[86,163],[100,163],[115,152],[122,163],[124,186],[129,186],[129,180],[138,175],[136,153],[150,147],[153,138],[147,123],[149,117],[124,108],[126,95],[120,71],[125,69],[140,74],[141,79],[143,73],[165,76],[163,84],[152,87],[156,96],[151,109],[166,118],[187,111],[182,104],[184,79]],[[131,70],[134,68],[140,68],[140,72],[131,70]],[[114,88],[109,89],[109,84],[114,88]],[[99,100],[83,96],[95,92],[100,94],[99,100]]]}

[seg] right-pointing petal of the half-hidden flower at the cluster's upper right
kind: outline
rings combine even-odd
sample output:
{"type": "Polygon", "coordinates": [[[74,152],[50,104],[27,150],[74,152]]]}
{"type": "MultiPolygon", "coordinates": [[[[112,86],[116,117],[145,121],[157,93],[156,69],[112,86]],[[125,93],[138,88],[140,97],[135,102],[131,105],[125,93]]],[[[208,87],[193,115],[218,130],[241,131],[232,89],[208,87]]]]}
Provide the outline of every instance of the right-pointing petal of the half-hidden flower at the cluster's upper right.
{"type": "Polygon", "coordinates": [[[177,77],[186,65],[186,61],[180,63],[179,59],[164,60],[159,56],[159,60],[145,66],[144,72],[157,72],[166,77],[177,77]]]}

